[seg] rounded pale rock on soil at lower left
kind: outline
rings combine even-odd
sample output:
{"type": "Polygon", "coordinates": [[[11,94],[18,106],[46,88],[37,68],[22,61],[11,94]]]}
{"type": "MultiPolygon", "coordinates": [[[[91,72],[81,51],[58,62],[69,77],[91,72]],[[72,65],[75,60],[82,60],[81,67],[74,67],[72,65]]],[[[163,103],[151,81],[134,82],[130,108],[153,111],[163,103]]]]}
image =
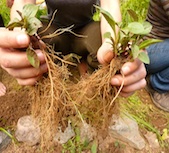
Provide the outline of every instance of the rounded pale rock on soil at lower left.
{"type": "Polygon", "coordinates": [[[18,141],[30,146],[40,142],[40,128],[31,116],[23,116],[18,120],[15,135],[18,141]]]}

